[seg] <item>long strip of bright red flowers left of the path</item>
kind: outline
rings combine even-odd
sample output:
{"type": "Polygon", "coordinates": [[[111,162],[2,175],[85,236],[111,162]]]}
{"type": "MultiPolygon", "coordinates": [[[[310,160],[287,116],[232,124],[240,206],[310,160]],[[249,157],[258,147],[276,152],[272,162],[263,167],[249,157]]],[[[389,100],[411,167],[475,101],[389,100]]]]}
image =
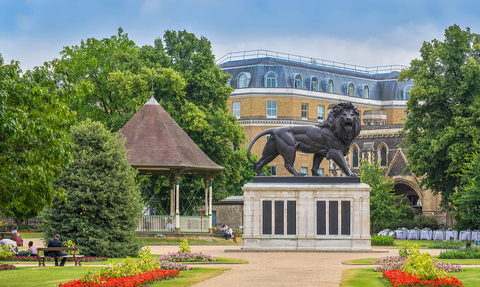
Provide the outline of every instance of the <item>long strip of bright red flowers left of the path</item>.
{"type": "Polygon", "coordinates": [[[153,270],[143,273],[138,273],[131,276],[124,276],[122,278],[105,278],[97,276],[92,278],[92,282],[87,282],[85,279],[72,280],[65,284],[60,284],[60,287],[100,287],[100,286],[142,286],[144,284],[152,284],[154,282],[177,277],[180,272],[178,270],[153,270]]]}

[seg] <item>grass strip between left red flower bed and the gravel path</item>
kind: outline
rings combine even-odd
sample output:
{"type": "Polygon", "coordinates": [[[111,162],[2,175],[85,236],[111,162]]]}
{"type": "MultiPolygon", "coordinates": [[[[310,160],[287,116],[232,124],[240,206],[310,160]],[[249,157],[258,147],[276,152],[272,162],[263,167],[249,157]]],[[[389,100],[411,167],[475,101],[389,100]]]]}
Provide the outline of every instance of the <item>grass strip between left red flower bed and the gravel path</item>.
{"type": "MultiPolygon", "coordinates": [[[[151,286],[162,287],[184,287],[192,286],[207,279],[213,278],[222,274],[223,272],[230,270],[230,268],[195,268],[189,271],[180,271],[180,276],[174,280],[162,281],[151,286]]],[[[228,285],[228,284],[227,284],[228,285]]]]}

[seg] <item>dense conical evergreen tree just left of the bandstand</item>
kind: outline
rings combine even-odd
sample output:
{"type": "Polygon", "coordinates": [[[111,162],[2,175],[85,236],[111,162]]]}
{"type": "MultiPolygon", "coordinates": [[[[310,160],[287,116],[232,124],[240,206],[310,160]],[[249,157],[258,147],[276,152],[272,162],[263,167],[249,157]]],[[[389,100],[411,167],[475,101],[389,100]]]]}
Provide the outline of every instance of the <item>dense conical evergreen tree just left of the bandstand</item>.
{"type": "Polygon", "coordinates": [[[84,255],[135,256],[141,246],[134,231],[142,205],[125,139],[117,140],[117,133],[89,119],[73,126],[71,137],[74,164],[55,182],[67,200],[55,197],[42,214],[45,241],[58,233],[84,255]]]}

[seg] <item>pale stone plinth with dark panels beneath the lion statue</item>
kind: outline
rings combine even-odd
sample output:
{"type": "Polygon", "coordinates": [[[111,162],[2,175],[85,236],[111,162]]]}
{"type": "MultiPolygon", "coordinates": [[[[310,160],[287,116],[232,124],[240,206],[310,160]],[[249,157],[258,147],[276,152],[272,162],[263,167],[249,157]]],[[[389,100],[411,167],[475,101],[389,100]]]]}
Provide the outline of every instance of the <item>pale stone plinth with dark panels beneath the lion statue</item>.
{"type": "Polygon", "coordinates": [[[254,177],[244,251],[371,251],[370,187],[352,177],[254,177]]]}

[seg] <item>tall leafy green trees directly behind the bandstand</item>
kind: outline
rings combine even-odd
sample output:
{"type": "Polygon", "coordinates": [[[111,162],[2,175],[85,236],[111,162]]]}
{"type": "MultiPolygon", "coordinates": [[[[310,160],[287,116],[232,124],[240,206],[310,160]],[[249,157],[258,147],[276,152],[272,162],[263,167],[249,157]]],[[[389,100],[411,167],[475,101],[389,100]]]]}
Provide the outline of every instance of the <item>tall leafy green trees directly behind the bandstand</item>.
{"type": "MultiPolygon", "coordinates": [[[[241,180],[241,163],[232,147],[243,144],[246,136],[228,113],[227,101],[233,91],[227,86],[230,75],[215,65],[210,41],[205,37],[166,31],[153,46],[139,48],[120,28],[116,36],[90,38],[65,47],[61,54],[62,61],[72,69],[71,81],[88,79],[94,84],[93,93],[72,106],[81,119],[98,120],[118,131],[152,96],[153,89],[155,99],[190,138],[215,163],[225,167],[215,178],[214,198],[224,198],[236,188],[241,180]],[[92,57],[107,60],[85,60],[92,57]]],[[[149,190],[146,196],[153,191],[159,199],[168,198],[168,179],[144,177],[141,182],[142,190],[149,190]]],[[[201,201],[201,177],[186,177],[182,186],[188,190],[182,193],[182,199],[201,201]]]]}

